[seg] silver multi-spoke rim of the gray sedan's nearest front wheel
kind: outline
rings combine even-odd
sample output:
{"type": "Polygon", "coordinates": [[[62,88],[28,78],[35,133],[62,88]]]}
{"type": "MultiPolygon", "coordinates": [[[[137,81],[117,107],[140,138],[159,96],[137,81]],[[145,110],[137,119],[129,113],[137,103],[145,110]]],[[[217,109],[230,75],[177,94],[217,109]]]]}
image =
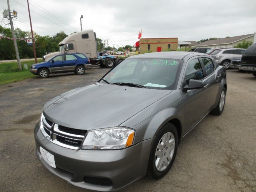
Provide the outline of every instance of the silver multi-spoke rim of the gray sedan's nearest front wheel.
{"type": "Polygon", "coordinates": [[[175,138],[171,132],[167,132],[160,139],[155,153],[155,166],[158,171],[165,170],[170,164],[175,149],[175,138]]]}

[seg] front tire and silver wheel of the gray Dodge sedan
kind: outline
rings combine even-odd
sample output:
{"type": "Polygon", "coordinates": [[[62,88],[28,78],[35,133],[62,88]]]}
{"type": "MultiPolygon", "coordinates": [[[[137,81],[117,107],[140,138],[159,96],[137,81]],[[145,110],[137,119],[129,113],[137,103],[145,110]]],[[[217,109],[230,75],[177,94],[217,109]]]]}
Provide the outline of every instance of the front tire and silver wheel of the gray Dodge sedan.
{"type": "Polygon", "coordinates": [[[166,123],[156,135],[148,161],[148,175],[160,179],[174,162],[178,149],[178,131],[172,123],[166,123]]]}

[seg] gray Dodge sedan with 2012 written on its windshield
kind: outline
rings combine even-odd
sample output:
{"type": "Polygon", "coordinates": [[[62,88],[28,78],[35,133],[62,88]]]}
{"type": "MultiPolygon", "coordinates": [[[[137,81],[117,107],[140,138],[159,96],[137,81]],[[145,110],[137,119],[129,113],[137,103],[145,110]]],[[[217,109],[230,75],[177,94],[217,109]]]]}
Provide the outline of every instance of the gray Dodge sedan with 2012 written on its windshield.
{"type": "Polygon", "coordinates": [[[36,155],[52,173],[92,190],[117,190],[147,172],[160,179],[180,140],[209,112],[222,114],[226,90],[226,70],[207,54],[132,56],[45,104],[36,155]]]}

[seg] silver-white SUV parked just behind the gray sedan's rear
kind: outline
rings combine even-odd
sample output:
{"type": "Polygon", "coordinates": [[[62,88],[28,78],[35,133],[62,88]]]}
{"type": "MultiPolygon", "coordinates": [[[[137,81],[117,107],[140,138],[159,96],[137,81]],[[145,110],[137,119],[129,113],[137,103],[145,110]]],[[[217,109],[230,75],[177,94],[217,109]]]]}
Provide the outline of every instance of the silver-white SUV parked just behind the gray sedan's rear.
{"type": "Polygon", "coordinates": [[[219,65],[224,66],[225,69],[229,68],[232,59],[240,59],[245,49],[240,48],[226,48],[215,50],[211,56],[216,60],[219,65]]]}

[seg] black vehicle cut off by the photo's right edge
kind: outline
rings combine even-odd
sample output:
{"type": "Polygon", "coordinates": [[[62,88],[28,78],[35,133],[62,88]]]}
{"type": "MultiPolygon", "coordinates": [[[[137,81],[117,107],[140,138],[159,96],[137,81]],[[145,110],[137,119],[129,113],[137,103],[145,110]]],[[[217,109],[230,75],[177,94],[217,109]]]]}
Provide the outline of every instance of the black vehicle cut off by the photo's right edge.
{"type": "Polygon", "coordinates": [[[245,50],[240,65],[240,70],[252,72],[252,75],[256,77],[256,44],[250,45],[245,50]]]}

